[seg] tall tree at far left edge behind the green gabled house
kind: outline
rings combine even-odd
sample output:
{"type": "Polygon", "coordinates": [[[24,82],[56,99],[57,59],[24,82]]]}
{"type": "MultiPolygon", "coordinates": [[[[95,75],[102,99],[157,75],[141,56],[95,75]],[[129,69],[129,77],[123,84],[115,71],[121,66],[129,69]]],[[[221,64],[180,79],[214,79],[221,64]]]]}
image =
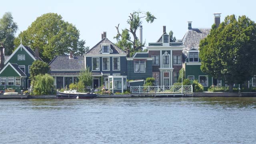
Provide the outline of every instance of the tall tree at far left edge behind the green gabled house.
{"type": "Polygon", "coordinates": [[[0,42],[4,43],[5,55],[11,55],[14,49],[14,34],[18,25],[13,21],[12,14],[6,12],[0,19],[0,42]]]}

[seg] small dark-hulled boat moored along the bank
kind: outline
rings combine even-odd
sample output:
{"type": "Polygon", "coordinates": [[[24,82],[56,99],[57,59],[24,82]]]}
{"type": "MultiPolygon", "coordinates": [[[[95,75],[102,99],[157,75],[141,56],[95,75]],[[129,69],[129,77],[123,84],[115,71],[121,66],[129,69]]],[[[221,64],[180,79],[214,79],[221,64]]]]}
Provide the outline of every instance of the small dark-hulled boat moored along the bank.
{"type": "Polygon", "coordinates": [[[56,99],[93,99],[97,97],[95,93],[79,93],[76,91],[57,91],[56,99]]]}

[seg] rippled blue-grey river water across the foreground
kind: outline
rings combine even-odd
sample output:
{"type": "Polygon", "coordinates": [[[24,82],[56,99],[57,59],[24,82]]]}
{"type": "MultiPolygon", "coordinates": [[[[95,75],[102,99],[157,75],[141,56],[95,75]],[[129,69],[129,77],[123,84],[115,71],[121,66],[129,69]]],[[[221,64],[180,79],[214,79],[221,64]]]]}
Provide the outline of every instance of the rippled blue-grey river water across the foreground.
{"type": "Polygon", "coordinates": [[[256,144],[256,98],[0,100],[0,144],[256,144]]]}

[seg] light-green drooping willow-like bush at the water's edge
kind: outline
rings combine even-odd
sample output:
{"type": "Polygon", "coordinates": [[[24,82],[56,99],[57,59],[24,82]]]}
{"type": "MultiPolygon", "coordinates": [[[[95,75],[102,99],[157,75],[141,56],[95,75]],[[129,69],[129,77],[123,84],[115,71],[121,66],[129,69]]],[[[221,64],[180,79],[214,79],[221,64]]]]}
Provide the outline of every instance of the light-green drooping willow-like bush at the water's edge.
{"type": "Polygon", "coordinates": [[[54,94],[54,79],[48,74],[35,76],[33,94],[50,95],[54,94]]]}

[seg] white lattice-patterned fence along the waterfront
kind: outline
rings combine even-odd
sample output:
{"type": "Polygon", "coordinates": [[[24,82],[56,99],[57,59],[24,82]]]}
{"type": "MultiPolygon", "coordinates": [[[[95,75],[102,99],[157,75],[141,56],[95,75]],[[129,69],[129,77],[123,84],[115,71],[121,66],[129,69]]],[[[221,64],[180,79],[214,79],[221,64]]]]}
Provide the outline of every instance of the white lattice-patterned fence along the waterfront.
{"type": "Polygon", "coordinates": [[[192,85],[171,86],[135,86],[130,87],[131,93],[193,93],[192,85]]]}

